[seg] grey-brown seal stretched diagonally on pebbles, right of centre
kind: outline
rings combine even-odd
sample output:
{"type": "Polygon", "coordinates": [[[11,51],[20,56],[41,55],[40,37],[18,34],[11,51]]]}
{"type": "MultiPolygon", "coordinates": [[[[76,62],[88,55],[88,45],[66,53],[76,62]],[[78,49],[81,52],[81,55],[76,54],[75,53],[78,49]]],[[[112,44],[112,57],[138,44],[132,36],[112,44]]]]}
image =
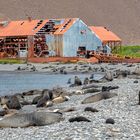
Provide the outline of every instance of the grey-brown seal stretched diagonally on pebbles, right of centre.
{"type": "Polygon", "coordinates": [[[90,97],[85,98],[82,101],[82,104],[94,103],[94,102],[98,102],[98,101],[103,100],[103,99],[112,98],[114,96],[117,96],[117,94],[116,93],[110,93],[108,91],[100,92],[98,94],[95,94],[95,95],[92,95],[90,97]]]}

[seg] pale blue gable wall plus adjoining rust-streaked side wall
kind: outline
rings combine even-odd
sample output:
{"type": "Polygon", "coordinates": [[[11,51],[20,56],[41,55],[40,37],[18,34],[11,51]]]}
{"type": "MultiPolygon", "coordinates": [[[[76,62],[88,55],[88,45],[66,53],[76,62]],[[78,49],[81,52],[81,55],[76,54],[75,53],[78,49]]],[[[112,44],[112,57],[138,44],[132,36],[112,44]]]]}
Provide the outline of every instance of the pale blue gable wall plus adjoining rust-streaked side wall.
{"type": "Polygon", "coordinates": [[[64,57],[77,56],[79,46],[85,46],[86,50],[96,50],[97,46],[102,46],[101,40],[80,19],[64,35],[47,34],[46,44],[57,56],[64,57]]]}

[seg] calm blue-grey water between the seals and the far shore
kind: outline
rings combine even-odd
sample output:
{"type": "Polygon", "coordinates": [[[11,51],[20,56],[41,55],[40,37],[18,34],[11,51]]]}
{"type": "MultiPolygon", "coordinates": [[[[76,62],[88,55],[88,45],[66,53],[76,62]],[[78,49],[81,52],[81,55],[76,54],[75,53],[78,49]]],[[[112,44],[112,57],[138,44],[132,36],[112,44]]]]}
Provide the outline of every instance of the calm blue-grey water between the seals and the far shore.
{"type": "MultiPolygon", "coordinates": [[[[21,93],[32,89],[53,88],[55,86],[68,86],[69,78],[74,78],[75,75],[45,73],[21,73],[21,72],[0,72],[0,95],[21,93]]],[[[88,74],[79,74],[81,79],[84,79],[88,74]]]]}

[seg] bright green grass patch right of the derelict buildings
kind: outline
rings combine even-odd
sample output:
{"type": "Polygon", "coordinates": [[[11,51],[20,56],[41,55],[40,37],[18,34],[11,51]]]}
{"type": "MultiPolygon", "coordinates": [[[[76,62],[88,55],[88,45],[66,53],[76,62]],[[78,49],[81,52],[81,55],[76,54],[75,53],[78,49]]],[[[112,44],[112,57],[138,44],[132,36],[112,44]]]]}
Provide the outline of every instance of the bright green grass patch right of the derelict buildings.
{"type": "Polygon", "coordinates": [[[121,49],[118,49],[117,53],[115,54],[118,54],[120,56],[140,58],[140,46],[122,46],[121,49]]]}

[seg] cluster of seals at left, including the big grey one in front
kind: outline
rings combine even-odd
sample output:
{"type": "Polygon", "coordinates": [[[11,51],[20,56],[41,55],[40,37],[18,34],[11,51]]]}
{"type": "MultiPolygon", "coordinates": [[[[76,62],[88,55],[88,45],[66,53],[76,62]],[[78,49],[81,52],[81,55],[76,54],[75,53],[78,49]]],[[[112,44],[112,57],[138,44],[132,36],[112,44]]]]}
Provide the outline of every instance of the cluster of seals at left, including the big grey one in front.
{"type": "MultiPolygon", "coordinates": [[[[4,116],[0,120],[0,127],[27,127],[33,125],[47,125],[54,122],[58,122],[62,120],[62,114],[57,111],[54,112],[46,112],[37,111],[37,109],[26,112],[26,110],[22,110],[26,101],[24,97],[32,96],[34,93],[37,93],[30,105],[36,105],[38,107],[48,107],[53,104],[62,103],[64,101],[69,100],[68,96],[65,96],[67,93],[62,89],[54,89],[48,90],[45,89],[42,92],[37,91],[28,91],[23,94],[15,94],[10,96],[2,96],[0,98],[0,104],[3,107],[3,110],[0,111],[0,115],[4,116]],[[24,102],[24,103],[23,103],[24,102]]],[[[39,109],[38,109],[39,110],[39,109]]]]}

